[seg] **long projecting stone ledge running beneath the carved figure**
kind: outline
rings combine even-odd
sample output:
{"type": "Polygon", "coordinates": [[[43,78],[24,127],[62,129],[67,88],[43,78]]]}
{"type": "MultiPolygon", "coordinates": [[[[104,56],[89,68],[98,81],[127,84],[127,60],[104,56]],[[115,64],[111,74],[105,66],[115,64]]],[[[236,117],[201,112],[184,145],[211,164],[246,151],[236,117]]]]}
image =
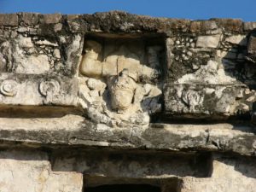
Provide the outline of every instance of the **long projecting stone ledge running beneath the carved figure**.
{"type": "Polygon", "coordinates": [[[26,147],[26,143],[30,143],[48,148],[61,145],[63,148],[145,148],[148,151],[188,153],[229,151],[250,156],[254,156],[256,152],[256,137],[253,127],[248,125],[151,124],[147,129],[120,129],[103,124],[96,125],[79,114],[63,115],[60,110],[54,113],[42,109],[40,113],[23,112],[23,118],[17,116],[21,110],[9,111],[12,113],[5,113],[6,118],[0,119],[0,125],[3,127],[0,130],[0,140],[3,147],[7,144],[26,147]]]}

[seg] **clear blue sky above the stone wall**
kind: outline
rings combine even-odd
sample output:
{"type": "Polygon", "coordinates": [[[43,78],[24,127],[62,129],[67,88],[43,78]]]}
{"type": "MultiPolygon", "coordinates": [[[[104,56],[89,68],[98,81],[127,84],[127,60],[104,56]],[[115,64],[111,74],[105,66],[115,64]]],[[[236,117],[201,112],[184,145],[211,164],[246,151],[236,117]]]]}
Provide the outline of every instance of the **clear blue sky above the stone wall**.
{"type": "Polygon", "coordinates": [[[256,21],[256,0],[0,0],[0,13],[93,14],[123,10],[131,14],[207,20],[256,21]]]}

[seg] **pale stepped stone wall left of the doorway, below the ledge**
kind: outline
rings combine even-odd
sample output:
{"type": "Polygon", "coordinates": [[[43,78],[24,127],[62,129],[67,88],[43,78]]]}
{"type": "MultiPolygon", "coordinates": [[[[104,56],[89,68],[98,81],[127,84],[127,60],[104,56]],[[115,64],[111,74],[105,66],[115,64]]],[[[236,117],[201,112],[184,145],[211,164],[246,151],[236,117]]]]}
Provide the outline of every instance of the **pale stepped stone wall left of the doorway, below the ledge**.
{"type": "Polygon", "coordinates": [[[2,151],[1,191],[81,192],[83,177],[75,172],[53,172],[48,154],[35,151],[2,151]]]}

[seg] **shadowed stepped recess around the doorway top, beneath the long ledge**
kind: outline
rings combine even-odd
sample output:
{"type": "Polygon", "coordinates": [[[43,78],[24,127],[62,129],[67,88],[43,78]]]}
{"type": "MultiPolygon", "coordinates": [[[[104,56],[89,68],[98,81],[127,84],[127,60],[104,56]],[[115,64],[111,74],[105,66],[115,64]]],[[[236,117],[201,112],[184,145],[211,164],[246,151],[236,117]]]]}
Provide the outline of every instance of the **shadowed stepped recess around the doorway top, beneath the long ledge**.
{"type": "Polygon", "coordinates": [[[126,189],[178,192],[182,177],[210,176],[211,157],[211,154],[94,149],[54,152],[51,160],[55,172],[82,173],[85,192],[126,189]]]}

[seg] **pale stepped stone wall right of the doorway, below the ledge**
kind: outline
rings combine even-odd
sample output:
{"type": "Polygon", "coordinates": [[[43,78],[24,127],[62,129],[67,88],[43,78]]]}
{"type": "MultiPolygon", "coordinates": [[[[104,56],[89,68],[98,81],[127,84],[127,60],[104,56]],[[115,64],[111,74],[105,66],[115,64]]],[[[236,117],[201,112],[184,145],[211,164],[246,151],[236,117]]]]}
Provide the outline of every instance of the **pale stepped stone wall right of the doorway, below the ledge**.
{"type": "Polygon", "coordinates": [[[212,176],[208,178],[185,177],[182,192],[253,192],[256,188],[255,160],[220,158],[213,160],[212,176]]]}

